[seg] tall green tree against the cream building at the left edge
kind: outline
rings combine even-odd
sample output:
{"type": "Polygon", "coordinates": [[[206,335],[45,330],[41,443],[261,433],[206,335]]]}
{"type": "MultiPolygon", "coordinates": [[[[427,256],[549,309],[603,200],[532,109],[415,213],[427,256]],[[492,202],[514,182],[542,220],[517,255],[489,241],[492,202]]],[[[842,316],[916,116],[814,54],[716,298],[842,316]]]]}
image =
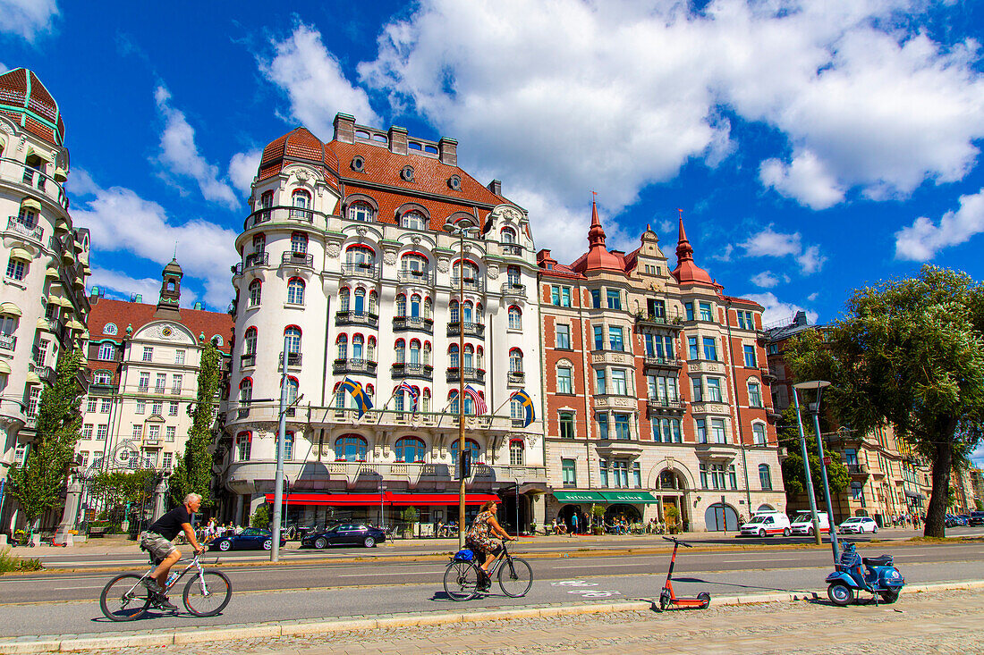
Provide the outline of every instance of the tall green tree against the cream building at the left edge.
{"type": "Polygon", "coordinates": [[[31,529],[38,516],[62,504],[62,487],[81,437],[82,389],[76,375],[82,365],[81,350],[62,353],[54,385],[41,390],[37,432],[28,457],[23,466],[10,472],[11,494],[24,510],[31,529]]]}

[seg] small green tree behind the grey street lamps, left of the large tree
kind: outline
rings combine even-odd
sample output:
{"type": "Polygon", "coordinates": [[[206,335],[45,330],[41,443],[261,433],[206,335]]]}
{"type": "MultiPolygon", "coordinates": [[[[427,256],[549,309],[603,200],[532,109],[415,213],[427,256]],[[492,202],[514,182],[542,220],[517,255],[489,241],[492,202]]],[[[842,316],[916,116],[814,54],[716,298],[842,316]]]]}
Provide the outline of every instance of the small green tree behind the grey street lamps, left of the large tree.
{"type": "MultiPolygon", "coordinates": [[[[815,498],[823,505],[824,489],[821,483],[820,453],[817,450],[817,438],[810,416],[803,415],[803,433],[806,437],[806,452],[810,458],[810,476],[813,480],[815,498]]],[[[821,418],[821,432],[828,432],[826,421],[821,418]]],[[[782,460],[782,484],[787,494],[798,495],[806,493],[806,470],[803,467],[803,447],[800,445],[799,428],[796,426],[796,408],[792,405],[782,412],[776,433],[779,446],[785,447],[788,453],[782,460]]],[[[826,448],[825,448],[826,452],[826,448]]],[[[830,458],[827,465],[827,479],[830,484],[830,495],[845,491],[850,484],[850,474],[847,467],[837,458],[830,458]]],[[[833,520],[833,517],[830,517],[833,520]]]]}

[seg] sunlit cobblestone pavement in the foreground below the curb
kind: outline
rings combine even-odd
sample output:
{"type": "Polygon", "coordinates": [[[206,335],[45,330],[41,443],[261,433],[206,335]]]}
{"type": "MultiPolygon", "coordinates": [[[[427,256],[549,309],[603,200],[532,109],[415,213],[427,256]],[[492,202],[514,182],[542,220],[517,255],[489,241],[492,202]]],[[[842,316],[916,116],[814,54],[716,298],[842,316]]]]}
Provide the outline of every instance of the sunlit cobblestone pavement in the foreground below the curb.
{"type": "MultiPolygon", "coordinates": [[[[984,589],[910,593],[894,605],[764,603],[704,611],[615,612],[559,618],[371,629],[201,643],[196,654],[442,653],[551,655],[627,652],[708,655],[795,652],[984,654],[984,589]]],[[[173,648],[169,646],[167,648],[173,648]]],[[[158,655],[164,647],[88,651],[158,655]]]]}

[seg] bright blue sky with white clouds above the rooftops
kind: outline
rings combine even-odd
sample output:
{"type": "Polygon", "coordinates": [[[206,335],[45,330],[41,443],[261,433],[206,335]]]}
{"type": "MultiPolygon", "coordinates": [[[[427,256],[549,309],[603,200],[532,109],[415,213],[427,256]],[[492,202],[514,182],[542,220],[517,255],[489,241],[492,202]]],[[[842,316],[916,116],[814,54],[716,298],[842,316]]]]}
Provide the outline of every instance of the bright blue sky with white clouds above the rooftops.
{"type": "Polygon", "coordinates": [[[677,208],[734,295],[829,321],[924,262],[984,279],[982,3],[579,0],[419,4],[0,0],[0,67],[67,126],[93,283],[224,309],[264,145],[336,112],[459,140],[555,257],[677,208]],[[575,229],[572,229],[572,226],[575,229]]]}

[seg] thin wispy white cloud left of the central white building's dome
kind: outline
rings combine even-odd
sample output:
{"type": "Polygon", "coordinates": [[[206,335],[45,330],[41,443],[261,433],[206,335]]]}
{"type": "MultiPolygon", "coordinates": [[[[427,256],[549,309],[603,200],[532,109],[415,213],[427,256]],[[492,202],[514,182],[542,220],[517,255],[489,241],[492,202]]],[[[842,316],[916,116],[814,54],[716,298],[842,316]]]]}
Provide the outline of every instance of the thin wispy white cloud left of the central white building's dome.
{"type": "Polygon", "coordinates": [[[228,182],[219,176],[218,166],[198,151],[195,145],[195,129],[188,123],[184,112],[170,105],[171,94],[164,87],[154,91],[157,110],[164,119],[164,131],[160,134],[160,152],[157,161],[167,172],[178,177],[191,178],[198,183],[202,196],[210,202],[227,208],[240,208],[239,199],[228,182]]]}

